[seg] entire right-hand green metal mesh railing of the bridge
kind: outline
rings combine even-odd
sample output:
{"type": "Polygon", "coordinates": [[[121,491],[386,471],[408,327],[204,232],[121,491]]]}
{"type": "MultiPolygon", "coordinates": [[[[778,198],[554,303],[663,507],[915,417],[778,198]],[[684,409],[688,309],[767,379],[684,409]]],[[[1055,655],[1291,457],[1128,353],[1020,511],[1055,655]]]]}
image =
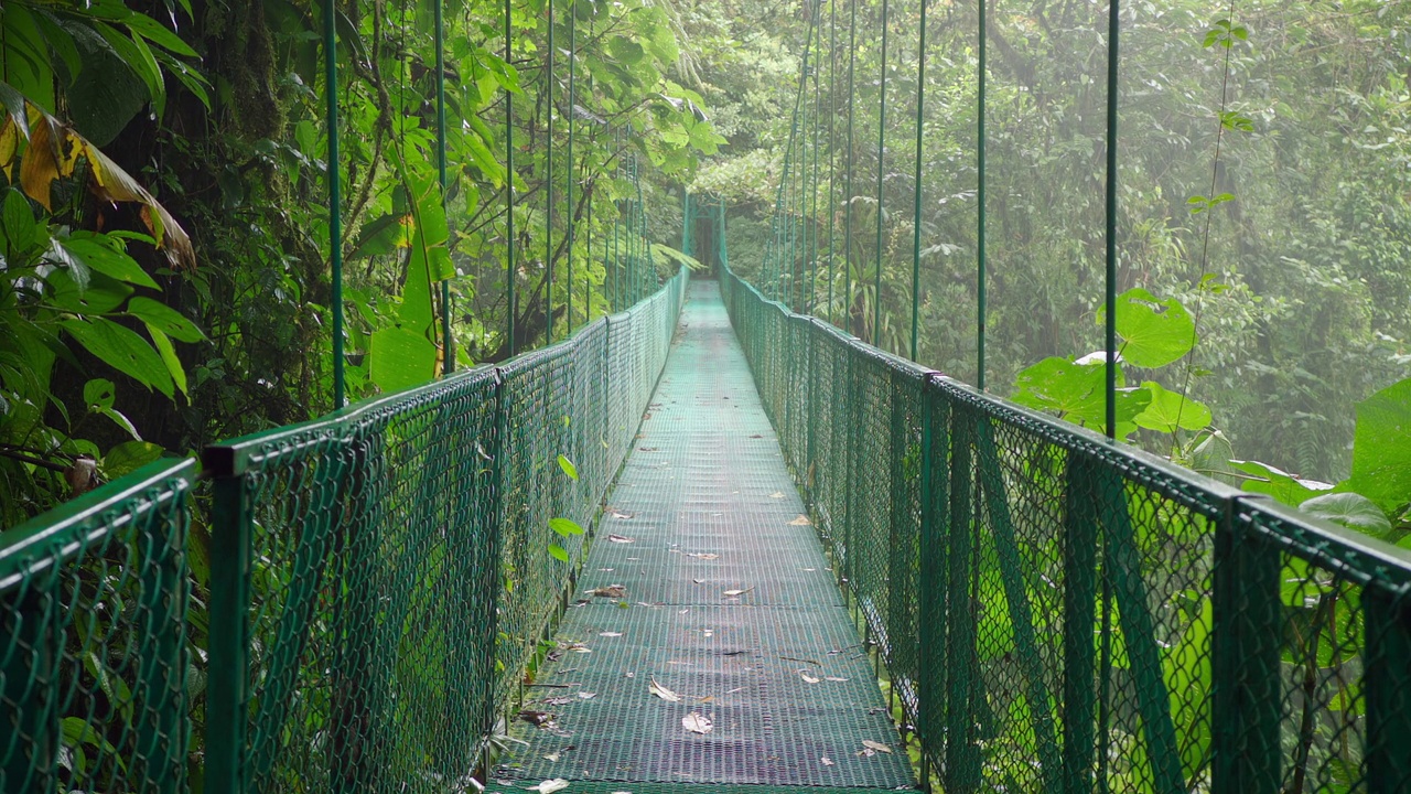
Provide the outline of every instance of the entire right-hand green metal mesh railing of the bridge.
{"type": "Polygon", "coordinates": [[[721,280],[947,793],[1411,790],[1411,554],[721,280]]]}

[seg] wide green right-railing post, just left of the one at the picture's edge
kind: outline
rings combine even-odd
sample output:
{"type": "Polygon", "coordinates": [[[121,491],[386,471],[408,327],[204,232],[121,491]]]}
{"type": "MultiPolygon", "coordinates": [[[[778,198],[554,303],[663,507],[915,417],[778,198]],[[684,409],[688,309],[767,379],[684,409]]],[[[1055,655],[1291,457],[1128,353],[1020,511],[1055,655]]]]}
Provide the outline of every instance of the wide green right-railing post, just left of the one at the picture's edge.
{"type": "Polygon", "coordinates": [[[1237,519],[1239,503],[1230,500],[1215,527],[1211,791],[1278,794],[1283,565],[1280,551],[1237,519]]]}

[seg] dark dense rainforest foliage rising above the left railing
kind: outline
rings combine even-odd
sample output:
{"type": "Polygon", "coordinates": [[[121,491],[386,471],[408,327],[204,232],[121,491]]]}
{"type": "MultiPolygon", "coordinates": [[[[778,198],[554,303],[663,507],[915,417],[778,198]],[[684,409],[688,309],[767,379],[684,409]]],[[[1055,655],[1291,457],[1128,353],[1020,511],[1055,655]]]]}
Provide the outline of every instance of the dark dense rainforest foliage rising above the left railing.
{"type": "MultiPolygon", "coordinates": [[[[670,4],[516,1],[507,49],[502,4],[447,0],[443,195],[436,3],[334,7],[351,398],[440,372],[442,283],[459,363],[507,355],[507,184],[526,349],[608,311],[601,242],[638,198],[632,170],[652,196],[722,140],[670,4]]],[[[0,6],[4,526],[333,407],[320,8],[0,6]]],[[[634,233],[679,223],[666,209],[634,233]]]]}

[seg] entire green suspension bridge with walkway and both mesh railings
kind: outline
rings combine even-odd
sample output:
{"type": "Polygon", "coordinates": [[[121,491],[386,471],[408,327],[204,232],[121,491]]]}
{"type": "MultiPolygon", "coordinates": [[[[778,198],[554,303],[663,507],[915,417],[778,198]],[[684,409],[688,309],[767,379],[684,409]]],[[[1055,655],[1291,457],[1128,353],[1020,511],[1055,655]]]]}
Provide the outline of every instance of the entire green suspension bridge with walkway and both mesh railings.
{"type": "Polygon", "coordinates": [[[1411,558],[831,322],[807,75],[756,284],[0,535],[0,791],[1411,791],[1411,558]]]}

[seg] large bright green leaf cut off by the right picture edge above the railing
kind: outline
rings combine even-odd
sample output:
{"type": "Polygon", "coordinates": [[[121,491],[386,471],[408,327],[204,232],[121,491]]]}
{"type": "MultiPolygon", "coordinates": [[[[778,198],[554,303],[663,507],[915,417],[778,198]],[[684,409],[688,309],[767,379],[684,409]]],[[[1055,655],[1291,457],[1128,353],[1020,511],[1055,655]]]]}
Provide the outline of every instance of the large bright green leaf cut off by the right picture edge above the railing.
{"type": "Polygon", "coordinates": [[[1383,511],[1411,502],[1411,379],[1357,403],[1348,487],[1383,511]]]}

